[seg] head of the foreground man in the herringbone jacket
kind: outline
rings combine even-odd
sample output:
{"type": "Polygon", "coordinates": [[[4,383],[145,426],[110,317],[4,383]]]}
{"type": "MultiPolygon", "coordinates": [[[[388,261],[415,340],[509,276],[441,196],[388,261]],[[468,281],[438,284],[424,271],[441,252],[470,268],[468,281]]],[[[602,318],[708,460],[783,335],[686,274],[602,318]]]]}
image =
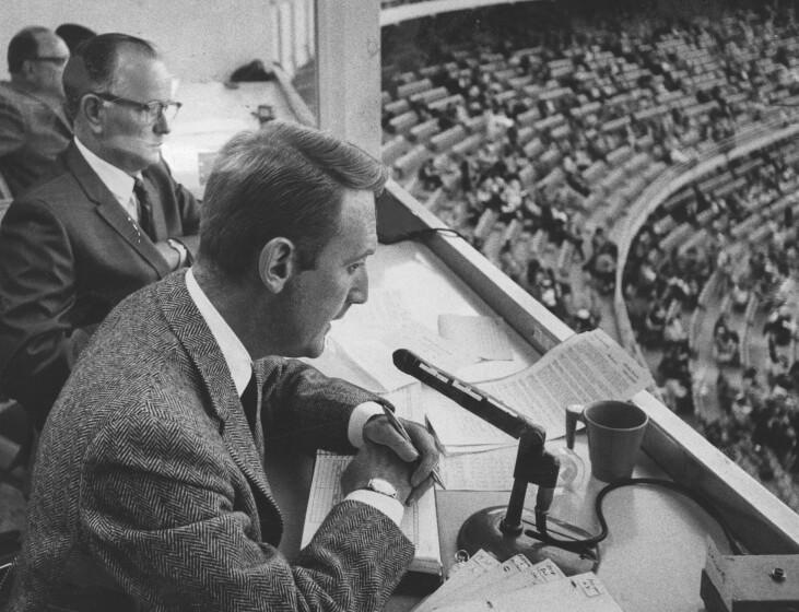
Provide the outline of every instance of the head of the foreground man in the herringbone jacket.
{"type": "Polygon", "coordinates": [[[270,121],[222,149],[195,270],[252,358],[318,356],[330,321],[366,301],[386,179],[363,150],[296,123],[270,121]]]}

